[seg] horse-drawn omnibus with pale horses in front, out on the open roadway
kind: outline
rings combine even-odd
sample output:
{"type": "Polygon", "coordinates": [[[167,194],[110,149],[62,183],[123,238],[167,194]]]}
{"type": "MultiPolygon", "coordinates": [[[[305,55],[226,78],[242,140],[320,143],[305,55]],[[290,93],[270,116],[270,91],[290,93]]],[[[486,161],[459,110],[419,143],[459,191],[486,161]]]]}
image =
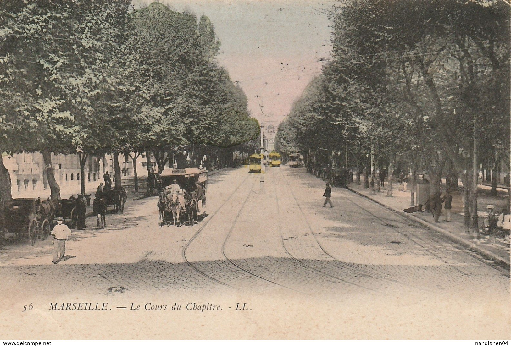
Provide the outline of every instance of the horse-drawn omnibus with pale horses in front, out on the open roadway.
{"type": "Polygon", "coordinates": [[[206,168],[166,169],[161,175],[158,193],[159,225],[193,226],[198,220],[198,203],[205,199],[206,168]],[[172,186],[172,184],[178,187],[172,186]]]}

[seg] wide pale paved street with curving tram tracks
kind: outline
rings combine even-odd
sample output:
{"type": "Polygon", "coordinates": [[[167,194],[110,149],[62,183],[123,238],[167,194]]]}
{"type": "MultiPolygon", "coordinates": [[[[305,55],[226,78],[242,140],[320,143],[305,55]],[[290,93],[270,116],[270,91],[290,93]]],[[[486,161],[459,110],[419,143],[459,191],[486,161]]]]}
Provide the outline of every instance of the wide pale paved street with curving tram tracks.
{"type": "Polygon", "coordinates": [[[107,216],[106,230],[75,231],[65,261],[51,263],[49,240],[31,248],[37,256],[4,256],[3,311],[38,301],[48,313],[44,302],[56,297],[121,305],[141,296],[237,297],[252,305],[343,302],[345,311],[381,309],[387,323],[393,313],[403,318],[402,309],[415,317],[424,310],[430,322],[505,329],[504,269],[345,189],[334,188],[335,207],[322,208],[324,183],[304,168],[268,167],[264,182],[247,170],[208,179],[208,216],[194,227],[158,228],[157,197],[130,200],[123,215],[107,216]]]}

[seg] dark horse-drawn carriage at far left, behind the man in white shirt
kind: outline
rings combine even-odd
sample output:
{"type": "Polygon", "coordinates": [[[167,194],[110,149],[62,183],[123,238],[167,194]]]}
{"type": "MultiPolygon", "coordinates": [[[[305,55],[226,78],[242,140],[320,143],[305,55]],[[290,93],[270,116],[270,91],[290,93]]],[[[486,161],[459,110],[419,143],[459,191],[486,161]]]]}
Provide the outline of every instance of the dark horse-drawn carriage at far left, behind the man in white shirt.
{"type": "Polygon", "coordinates": [[[2,202],[0,208],[2,237],[27,235],[34,245],[39,238],[45,240],[50,235],[55,211],[50,201],[17,198],[2,202]]]}

